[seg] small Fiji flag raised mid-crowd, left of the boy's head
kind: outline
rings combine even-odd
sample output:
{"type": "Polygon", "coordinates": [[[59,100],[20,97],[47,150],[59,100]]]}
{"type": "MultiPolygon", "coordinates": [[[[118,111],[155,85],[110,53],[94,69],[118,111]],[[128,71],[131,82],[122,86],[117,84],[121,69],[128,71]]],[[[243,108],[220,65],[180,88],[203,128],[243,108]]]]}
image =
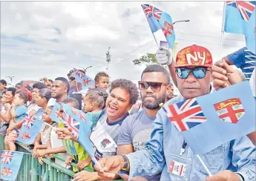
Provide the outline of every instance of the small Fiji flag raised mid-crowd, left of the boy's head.
{"type": "Polygon", "coordinates": [[[73,71],[76,73],[77,91],[88,90],[88,88],[91,88],[93,87],[93,85],[95,85],[95,81],[91,79],[89,76],[86,76],[85,73],[76,70],[76,68],[74,68],[73,71]]]}

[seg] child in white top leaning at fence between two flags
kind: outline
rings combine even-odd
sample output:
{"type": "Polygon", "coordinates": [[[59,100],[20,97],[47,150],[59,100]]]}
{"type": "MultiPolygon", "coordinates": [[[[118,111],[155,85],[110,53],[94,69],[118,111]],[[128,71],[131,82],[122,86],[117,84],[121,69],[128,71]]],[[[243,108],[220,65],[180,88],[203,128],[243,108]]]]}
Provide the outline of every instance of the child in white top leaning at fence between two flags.
{"type": "Polygon", "coordinates": [[[33,156],[38,157],[39,162],[42,163],[42,149],[47,148],[47,142],[50,139],[50,131],[53,127],[56,126],[58,123],[53,122],[52,119],[50,119],[50,113],[53,109],[53,106],[50,106],[46,108],[44,115],[42,116],[42,121],[46,122],[47,124],[42,125],[41,130],[39,131],[39,134],[36,136],[36,141],[34,142],[34,148],[33,148],[33,156]],[[40,144],[40,142],[42,144],[40,144]]]}

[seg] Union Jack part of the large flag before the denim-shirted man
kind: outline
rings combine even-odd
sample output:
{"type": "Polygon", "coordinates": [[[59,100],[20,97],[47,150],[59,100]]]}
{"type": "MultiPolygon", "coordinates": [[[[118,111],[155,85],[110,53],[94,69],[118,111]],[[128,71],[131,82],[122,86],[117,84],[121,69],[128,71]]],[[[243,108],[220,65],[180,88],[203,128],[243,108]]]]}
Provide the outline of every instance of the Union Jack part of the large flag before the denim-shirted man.
{"type": "Polygon", "coordinates": [[[166,111],[169,120],[178,131],[188,131],[194,126],[206,122],[206,116],[195,98],[168,105],[166,111]]]}

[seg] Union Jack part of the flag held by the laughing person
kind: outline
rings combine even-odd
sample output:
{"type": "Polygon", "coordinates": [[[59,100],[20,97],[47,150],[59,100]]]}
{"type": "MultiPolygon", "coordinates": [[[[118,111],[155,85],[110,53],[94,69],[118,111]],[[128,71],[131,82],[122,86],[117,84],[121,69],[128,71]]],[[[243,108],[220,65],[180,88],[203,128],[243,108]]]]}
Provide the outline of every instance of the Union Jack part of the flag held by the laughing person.
{"type": "Polygon", "coordinates": [[[66,128],[71,132],[73,136],[77,138],[79,134],[79,125],[80,122],[73,119],[72,116],[68,115],[68,113],[64,110],[63,111],[63,123],[66,128]]]}

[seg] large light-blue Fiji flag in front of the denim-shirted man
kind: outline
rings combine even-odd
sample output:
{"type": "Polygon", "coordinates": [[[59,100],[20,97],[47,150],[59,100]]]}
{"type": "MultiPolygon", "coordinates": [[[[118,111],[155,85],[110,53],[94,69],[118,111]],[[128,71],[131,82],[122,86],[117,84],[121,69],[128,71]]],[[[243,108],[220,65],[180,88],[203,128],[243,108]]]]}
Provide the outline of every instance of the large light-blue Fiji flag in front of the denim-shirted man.
{"type": "Polygon", "coordinates": [[[165,105],[165,110],[194,154],[206,154],[255,131],[255,98],[249,82],[165,105]]]}

